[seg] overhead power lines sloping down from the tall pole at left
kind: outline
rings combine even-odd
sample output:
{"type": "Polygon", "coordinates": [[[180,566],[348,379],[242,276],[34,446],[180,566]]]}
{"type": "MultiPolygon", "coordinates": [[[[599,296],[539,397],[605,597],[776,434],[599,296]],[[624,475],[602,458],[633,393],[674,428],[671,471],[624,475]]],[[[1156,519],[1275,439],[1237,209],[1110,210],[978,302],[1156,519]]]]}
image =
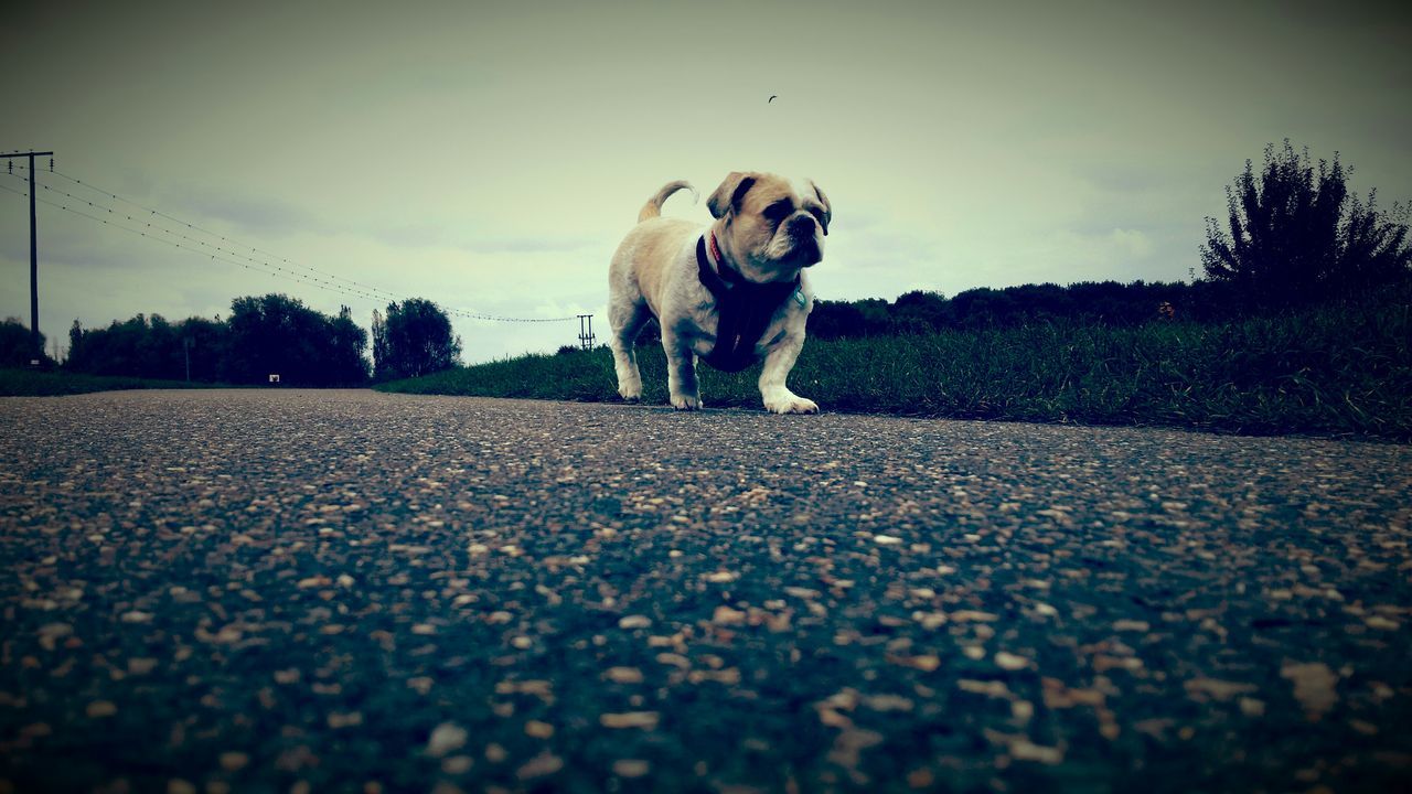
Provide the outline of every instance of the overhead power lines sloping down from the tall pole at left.
{"type": "MultiPolygon", "coordinates": [[[[0,154],[0,158],[3,158],[3,157],[4,155],[0,154]]],[[[23,171],[23,170],[25,170],[25,167],[20,165],[18,170],[23,171]]],[[[90,220],[97,220],[100,223],[116,226],[116,227],[123,229],[126,232],[131,232],[131,233],[140,235],[143,237],[151,237],[151,239],[158,240],[161,243],[172,244],[174,247],[182,249],[182,250],[188,250],[188,251],[192,251],[192,253],[209,254],[210,250],[215,250],[215,251],[219,251],[220,254],[234,256],[234,257],[247,260],[250,263],[256,263],[257,266],[263,266],[263,267],[254,267],[254,266],[246,264],[244,261],[233,261],[233,260],[227,259],[226,256],[217,256],[217,254],[209,254],[209,259],[210,260],[226,261],[226,263],[230,263],[230,264],[239,264],[240,267],[244,267],[246,270],[254,270],[257,273],[264,273],[267,275],[275,275],[275,277],[281,277],[281,278],[288,278],[288,280],[298,281],[298,283],[302,283],[302,284],[311,284],[313,287],[319,287],[319,288],[326,290],[326,291],[340,292],[340,294],[352,295],[352,297],[361,297],[361,298],[366,298],[366,300],[370,300],[370,301],[374,301],[374,302],[381,302],[381,301],[401,302],[401,301],[407,300],[404,297],[398,297],[395,292],[391,292],[388,290],[381,290],[378,287],[363,284],[360,281],[354,281],[352,278],[343,278],[340,275],[336,275],[336,274],[332,274],[332,273],[326,273],[326,271],[309,267],[306,264],[301,264],[301,263],[292,261],[292,260],[285,259],[285,257],[280,257],[280,256],[277,256],[274,253],[257,249],[254,246],[246,246],[246,244],[239,243],[237,240],[233,240],[233,239],[230,239],[230,237],[227,237],[225,235],[219,235],[219,233],[212,232],[209,229],[203,229],[201,226],[196,226],[195,223],[188,223],[188,222],[185,222],[185,220],[179,219],[179,218],[175,218],[172,215],[168,215],[168,213],[165,213],[165,212],[162,212],[160,209],[155,209],[155,208],[151,208],[151,206],[134,202],[131,199],[123,198],[123,196],[120,196],[120,195],[117,195],[114,192],[104,191],[104,189],[102,189],[102,188],[99,188],[99,186],[96,186],[96,185],[93,185],[90,182],[83,182],[83,181],[80,181],[80,179],[78,179],[75,177],[71,177],[68,174],[62,174],[59,171],[51,171],[51,172],[55,174],[55,175],[58,175],[58,177],[62,177],[64,179],[68,179],[69,182],[73,182],[75,185],[79,185],[82,188],[86,188],[89,191],[97,192],[97,194],[102,194],[102,195],[104,195],[107,198],[112,198],[114,201],[120,201],[123,203],[127,203],[127,205],[136,206],[136,208],[138,208],[141,211],[145,211],[151,216],[160,216],[160,218],[164,218],[167,220],[171,220],[172,223],[185,226],[186,229],[191,229],[192,232],[199,232],[199,233],[216,237],[216,239],[222,240],[223,243],[227,243],[227,246],[230,246],[230,249],[226,249],[226,247],[222,247],[222,246],[213,246],[210,243],[206,243],[206,242],[199,240],[196,237],[184,235],[181,232],[174,232],[174,230],[168,229],[167,226],[157,225],[157,223],[152,223],[152,222],[144,222],[140,218],[133,218],[131,215],[127,215],[124,212],[116,211],[116,209],[113,209],[110,206],[106,206],[106,205],[103,205],[100,202],[93,202],[93,201],[89,201],[86,198],[76,196],[76,195],[73,195],[71,192],[62,191],[59,188],[52,188],[49,185],[42,185],[41,184],[40,186],[44,188],[45,191],[51,191],[51,192],[64,195],[64,196],[66,196],[66,198],[69,198],[71,201],[75,201],[75,202],[83,202],[85,205],[93,208],[95,211],[107,212],[110,215],[126,218],[127,220],[130,220],[133,223],[144,223],[144,227],[150,227],[150,229],[167,233],[167,235],[169,235],[172,237],[178,237],[178,239],[182,239],[182,240],[186,240],[188,244],[182,246],[182,244],[175,243],[172,240],[164,240],[160,236],[157,236],[155,233],[147,233],[147,232],[143,232],[140,229],[131,229],[131,227],[123,226],[120,223],[116,223],[116,222],[112,222],[112,220],[107,220],[107,219],[103,219],[103,218],[96,218],[96,216],[88,215],[85,212],[76,211],[76,209],[69,208],[69,206],[62,205],[62,203],[55,203],[52,201],[38,199],[42,203],[47,203],[47,205],[51,205],[51,206],[58,206],[59,209],[65,209],[68,212],[72,212],[75,215],[80,215],[80,216],[88,218],[90,220]],[[208,250],[206,251],[198,250],[196,247],[192,247],[192,244],[199,246],[199,247],[205,247],[208,250]],[[274,260],[285,263],[285,264],[288,264],[291,267],[308,270],[311,273],[316,273],[316,274],[323,275],[326,278],[333,278],[333,280],[337,280],[337,281],[343,281],[346,284],[352,284],[352,285],[359,287],[359,288],[345,287],[343,284],[335,284],[335,283],[326,281],[323,278],[313,278],[313,277],[309,277],[309,275],[304,275],[301,273],[295,273],[291,268],[281,267],[280,264],[275,264],[274,261],[263,260],[263,259],[258,259],[258,257],[251,257],[249,254],[237,251],[234,249],[234,246],[237,246],[237,244],[240,246],[241,250],[249,249],[253,253],[264,254],[267,257],[271,257],[274,260]],[[274,268],[274,271],[270,271],[267,268],[274,268]]],[[[13,172],[10,172],[8,175],[18,178],[18,175],[13,174],[13,172]]],[[[3,186],[3,185],[0,185],[0,186],[3,186]]],[[[6,188],[6,189],[8,189],[10,192],[18,192],[18,191],[14,191],[11,188],[6,188]]],[[[21,195],[27,195],[27,194],[21,194],[21,195]]],[[[490,322],[525,322],[525,324],[535,322],[535,324],[539,324],[539,322],[568,322],[568,321],[578,319],[576,316],[556,316],[556,318],[503,316],[503,315],[494,315],[494,314],[490,314],[490,312],[481,312],[481,311],[474,311],[474,309],[463,309],[463,308],[443,308],[442,311],[445,311],[446,314],[455,315],[455,316],[466,318],[466,319],[480,319],[480,321],[490,321],[490,322]]]]}

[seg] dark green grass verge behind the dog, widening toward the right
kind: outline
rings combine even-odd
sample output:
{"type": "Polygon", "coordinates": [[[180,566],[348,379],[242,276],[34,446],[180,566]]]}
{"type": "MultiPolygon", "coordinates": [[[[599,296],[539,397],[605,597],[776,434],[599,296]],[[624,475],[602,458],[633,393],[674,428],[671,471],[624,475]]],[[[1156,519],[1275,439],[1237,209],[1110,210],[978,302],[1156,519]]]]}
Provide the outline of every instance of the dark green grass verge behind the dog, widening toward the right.
{"type": "MultiPolygon", "coordinates": [[[[1412,439],[1412,309],[1324,307],[1234,322],[1076,322],[928,336],[810,339],[789,376],[825,411],[1168,425],[1412,439]]],[[[644,401],[665,357],[640,348],[644,401]]],[[[699,367],[709,407],[760,408],[755,366],[699,367]]],[[[527,355],[378,386],[385,391],[617,400],[609,350],[527,355]]]]}

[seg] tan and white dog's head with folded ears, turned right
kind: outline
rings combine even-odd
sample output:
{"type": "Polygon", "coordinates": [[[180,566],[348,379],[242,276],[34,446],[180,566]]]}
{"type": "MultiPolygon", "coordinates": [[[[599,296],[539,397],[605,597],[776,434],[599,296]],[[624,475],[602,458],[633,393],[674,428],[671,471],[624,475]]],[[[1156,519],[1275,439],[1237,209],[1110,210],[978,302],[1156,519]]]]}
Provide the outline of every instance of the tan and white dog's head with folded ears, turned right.
{"type": "Polygon", "coordinates": [[[750,281],[789,281],[823,260],[829,196],[810,179],[733,171],[706,199],[719,219],[719,243],[750,281]]]}

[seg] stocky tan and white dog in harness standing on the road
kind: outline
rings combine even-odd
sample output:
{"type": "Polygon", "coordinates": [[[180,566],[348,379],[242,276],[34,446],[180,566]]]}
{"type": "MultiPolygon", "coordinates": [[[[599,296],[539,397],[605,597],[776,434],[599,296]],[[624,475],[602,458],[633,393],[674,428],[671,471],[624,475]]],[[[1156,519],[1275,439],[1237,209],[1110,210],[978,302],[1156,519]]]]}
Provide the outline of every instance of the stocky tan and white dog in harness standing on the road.
{"type": "Polygon", "coordinates": [[[785,386],[803,348],[813,292],[805,268],[823,261],[833,218],[829,198],[812,181],[734,171],[706,199],[716,220],[700,227],[662,218],[668,182],[647,201],[609,267],[609,326],[618,394],[642,397],[634,342],[648,318],[662,329],[666,389],[672,407],[702,407],[696,359],[726,372],[757,360],[760,396],[775,414],[815,414],[819,405],[785,386]]]}

